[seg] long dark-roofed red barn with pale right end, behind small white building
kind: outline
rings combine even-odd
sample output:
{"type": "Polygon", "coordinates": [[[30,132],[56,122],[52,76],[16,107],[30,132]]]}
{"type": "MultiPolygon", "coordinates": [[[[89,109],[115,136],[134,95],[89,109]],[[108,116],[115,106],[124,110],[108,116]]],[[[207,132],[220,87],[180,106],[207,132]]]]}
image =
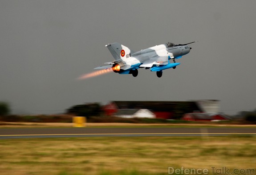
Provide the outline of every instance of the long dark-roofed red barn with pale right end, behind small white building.
{"type": "Polygon", "coordinates": [[[174,119],[177,113],[218,113],[219,100],[191,101],[111,101],[103,107],[106,115],[116,115],[123,109],[147,109],[155,118],[174,119]]]}

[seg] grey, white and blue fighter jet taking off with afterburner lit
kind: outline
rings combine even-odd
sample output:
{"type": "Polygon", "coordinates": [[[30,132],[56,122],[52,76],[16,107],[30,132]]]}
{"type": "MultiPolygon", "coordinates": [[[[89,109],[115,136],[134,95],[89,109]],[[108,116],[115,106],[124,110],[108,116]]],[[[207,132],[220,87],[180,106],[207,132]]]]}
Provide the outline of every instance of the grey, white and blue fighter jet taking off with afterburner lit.
{"type": "Polygon", "coordinates": [[[183,55],[190,52],[191,47],[188,44],[167,44],[156,45],[146,48],[138,52],[132,52],[126,46],[119,43],[107,44],[106,47],[114,57],[114,61],[108,62],[107,66],[100,66],[94,69],[112,69],[119,74],[132,74],[138,76],[138,68],[150,69],[156,72],[158,77],[162,77],[163,70],[175,69],[180,63],[176,63],[175,59],[180,59],[183,55]],[[173,63],[171,63],[171,60],[173,63]]]}

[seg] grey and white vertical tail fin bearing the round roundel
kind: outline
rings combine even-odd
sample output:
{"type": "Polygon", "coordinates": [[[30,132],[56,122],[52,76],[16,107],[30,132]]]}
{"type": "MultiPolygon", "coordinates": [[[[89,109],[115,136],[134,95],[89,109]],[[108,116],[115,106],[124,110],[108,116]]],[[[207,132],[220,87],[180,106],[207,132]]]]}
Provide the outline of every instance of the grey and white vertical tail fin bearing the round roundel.
{"type": "Polygon", "coordinates": [[[131,56],[131,51],[126,46],[119,43],[107,44],[106,47],[116,61],[126,61],[131,56]]]}

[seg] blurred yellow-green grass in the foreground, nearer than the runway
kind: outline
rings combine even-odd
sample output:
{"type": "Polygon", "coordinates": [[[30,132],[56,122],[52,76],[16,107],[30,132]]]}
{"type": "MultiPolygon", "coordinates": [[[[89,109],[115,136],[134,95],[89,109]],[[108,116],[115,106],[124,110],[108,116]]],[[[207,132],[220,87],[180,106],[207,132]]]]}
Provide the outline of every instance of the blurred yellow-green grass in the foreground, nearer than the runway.
{"type": "Polygon", "coordinates": [[[255,136],[1,139],[1,175],[167,175],[256,168],[255,136]]]}

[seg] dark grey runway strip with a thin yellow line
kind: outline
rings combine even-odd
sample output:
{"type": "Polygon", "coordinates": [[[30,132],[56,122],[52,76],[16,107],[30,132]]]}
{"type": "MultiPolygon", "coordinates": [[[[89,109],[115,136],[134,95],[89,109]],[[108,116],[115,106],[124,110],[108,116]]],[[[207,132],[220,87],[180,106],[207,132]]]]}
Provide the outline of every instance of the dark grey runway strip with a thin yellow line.
{"type": "Polygon", "coordinates": [[[256,135],[256,127],[0,128],[0,139],[216,135],[256,135]]]}

